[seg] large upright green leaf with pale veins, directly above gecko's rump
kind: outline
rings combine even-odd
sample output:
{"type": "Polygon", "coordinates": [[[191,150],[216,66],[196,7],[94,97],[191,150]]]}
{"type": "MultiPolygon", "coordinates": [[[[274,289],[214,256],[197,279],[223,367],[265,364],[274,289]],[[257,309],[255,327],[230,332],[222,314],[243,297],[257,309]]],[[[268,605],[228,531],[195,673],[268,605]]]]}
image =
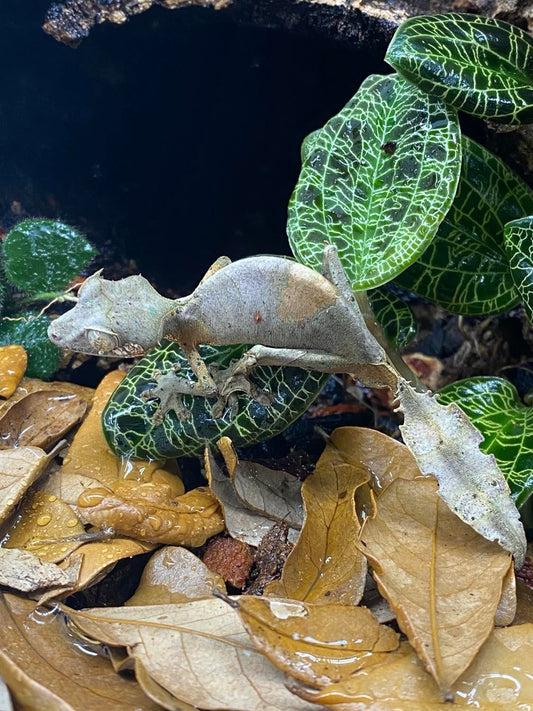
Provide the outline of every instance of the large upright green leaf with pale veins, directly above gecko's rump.
{"type": "Polygon", "coordinates": [[[455,112],[401,77],[372,75],[306,141],[289,203],[294,255],[319,270],[327,240],[354,289],[386,283],[420,256],[451,205],[455,112]]]}

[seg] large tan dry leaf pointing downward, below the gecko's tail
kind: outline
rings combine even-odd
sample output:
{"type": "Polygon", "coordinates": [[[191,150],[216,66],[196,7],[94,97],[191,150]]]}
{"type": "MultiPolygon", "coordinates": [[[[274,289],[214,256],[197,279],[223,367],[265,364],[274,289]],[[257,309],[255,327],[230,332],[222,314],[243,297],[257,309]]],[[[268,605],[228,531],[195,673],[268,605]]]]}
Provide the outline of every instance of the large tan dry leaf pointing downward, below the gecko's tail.
{"type": "Polygon", "coordinates": [[[463,523],[431,477],[396,479],[361,534],[401,629],[446,694],[489,636],[512,565],[463,523]]]}

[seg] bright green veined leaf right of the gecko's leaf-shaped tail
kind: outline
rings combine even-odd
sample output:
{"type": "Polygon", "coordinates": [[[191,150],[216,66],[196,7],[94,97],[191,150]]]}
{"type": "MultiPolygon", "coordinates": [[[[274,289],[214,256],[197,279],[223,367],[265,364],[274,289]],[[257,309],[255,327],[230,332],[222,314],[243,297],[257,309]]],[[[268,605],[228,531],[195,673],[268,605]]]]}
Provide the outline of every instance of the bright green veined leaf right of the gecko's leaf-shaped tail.
{"type": "Polygon", "coordinates": [[[439,402],[456,402],[485,437],[481,451],[494,454],[517,506],[533,493],[533,409],[503,378],[459,380],[443,388],[439,402]]]}

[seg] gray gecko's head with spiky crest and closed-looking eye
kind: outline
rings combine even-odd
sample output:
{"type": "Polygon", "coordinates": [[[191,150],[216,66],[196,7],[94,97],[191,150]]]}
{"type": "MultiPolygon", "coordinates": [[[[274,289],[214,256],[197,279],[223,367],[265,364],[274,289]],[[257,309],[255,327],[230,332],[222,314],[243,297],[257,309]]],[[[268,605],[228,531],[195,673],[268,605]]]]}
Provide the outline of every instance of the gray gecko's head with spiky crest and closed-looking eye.
{"type": "Polygon", "coordinates": [[[108,281],[97,273],[81,287],[76,306],[50,324],[48,337],[79,353],[140,356],[161,340],[169,302],[141,276],[108,281]]]}

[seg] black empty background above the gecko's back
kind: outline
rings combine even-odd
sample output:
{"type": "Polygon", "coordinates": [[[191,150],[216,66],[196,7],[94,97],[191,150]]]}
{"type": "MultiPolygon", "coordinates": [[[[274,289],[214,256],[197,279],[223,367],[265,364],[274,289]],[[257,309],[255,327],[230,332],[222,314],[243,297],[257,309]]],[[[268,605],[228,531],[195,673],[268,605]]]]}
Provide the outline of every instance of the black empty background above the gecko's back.
{"type": "Polygon", "coordinates": [[[362,46],[153,8],[77,49],[48,0],[0,3],[0,223],[13,201],[80,227],[178,293],[220,254],[289,253],[302,138],[372,72],[362,46]]]}

